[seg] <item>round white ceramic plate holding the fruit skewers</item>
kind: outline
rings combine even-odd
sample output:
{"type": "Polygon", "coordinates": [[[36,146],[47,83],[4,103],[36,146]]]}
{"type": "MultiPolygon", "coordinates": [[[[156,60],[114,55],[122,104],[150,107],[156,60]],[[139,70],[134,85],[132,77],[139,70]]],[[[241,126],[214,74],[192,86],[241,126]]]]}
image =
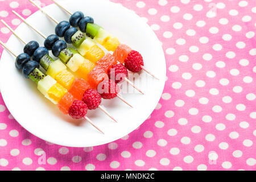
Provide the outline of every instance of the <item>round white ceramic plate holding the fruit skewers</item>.
{"type": "MultiPolygon", "coordinates": [[[[14,66],[14,56],[5,50],[0,61],[0,86],[3,100],[20,125],[36,137],[51,143],[70,147],[89,147],[122,138],[137,129],[158,104],[166,79],[166,61],[162,46],[142,18],[121,5],[98,0],[61,1],[60,3],[72,12],[80,10],[85,15],[92,16],[94,22],[117,36],[122,43],[142,53],[145,67],[159,77],[160,81],[146,77],[145,73],[135,79],[135,84],[144,91],[145,95],[137,92],[122,94],[134,106],[133,109],[117,98],[103,101],[102,105],[117,119],[118,123],[111,121],[99,109],[89,111],[88,117],[104,131],[105,135],[103,135],[88,122],[74,125],[73,122],[76,121],[68,115],[63,115],[57,106],[39,93],[34,82],[22,76],[14,66]]],[[[44,10],[59,21],[69,19],[69,15],[56,5],[44,7],[44,10]]],[[[45,35],[54,33],[55,23],[40,11],[32,14],[27,20],[45,35]]],[[[43,45],[44,40],[24,23],[16,28],[16,33],[27,42],[37,40],[40,46],[43,45]]],[[[8,40],[7,46],[11,47],[16,54],[22,53],[24,47],[14,35],[8,40]]]]}

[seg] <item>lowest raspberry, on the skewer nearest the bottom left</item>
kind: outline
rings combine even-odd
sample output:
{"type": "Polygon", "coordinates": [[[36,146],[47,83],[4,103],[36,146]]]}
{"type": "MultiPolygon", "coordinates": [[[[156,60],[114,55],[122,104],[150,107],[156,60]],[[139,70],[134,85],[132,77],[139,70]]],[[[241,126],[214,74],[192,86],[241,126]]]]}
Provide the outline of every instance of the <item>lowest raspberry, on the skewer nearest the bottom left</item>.
{"type": "Polygon", "coordinates": [[[81,119],[87,114],[88,107],[82,101],[74,101],[69,107],[68,114],[74,119],[81,119]]]}

